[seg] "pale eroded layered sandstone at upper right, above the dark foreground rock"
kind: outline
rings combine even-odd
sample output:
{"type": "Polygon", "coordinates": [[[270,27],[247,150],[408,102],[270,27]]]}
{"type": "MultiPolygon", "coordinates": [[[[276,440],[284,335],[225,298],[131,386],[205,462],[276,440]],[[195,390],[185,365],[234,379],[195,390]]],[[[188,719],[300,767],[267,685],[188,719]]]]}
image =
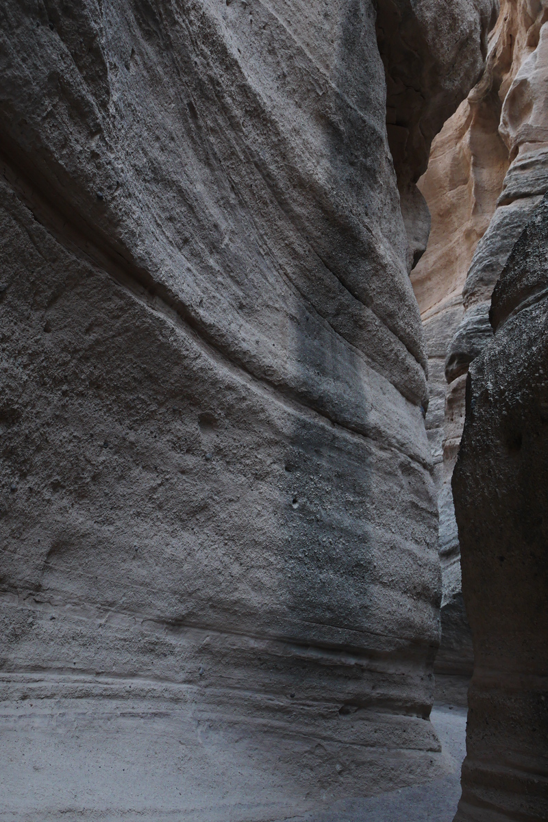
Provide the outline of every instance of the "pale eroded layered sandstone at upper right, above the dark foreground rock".
{"type": "MultiPolygon", "coordinates": [[[[477,245],[463,286],[463,303],[468,310],[452,346],[462,349],[461,356],[467,356],[469,361],[477,356],[489,336],[484,330],[485,320],[480,317],[486,316],[490,295],[509,252],[548,187],[547,18],[548,5],[544,2],[537,2],[534,7],[528,2],[503,3],[499,23],[491,35],[493,57],[488,60],[486,77],[478,87],[498,92],[498,132],[510,162],[495,214],[477,245]]],[[[476,97],[477,93],[472,90],[470,96],[476,97]]],[[[447,376],[450,380],[452,373],[449,371],[447,376]]]]}

